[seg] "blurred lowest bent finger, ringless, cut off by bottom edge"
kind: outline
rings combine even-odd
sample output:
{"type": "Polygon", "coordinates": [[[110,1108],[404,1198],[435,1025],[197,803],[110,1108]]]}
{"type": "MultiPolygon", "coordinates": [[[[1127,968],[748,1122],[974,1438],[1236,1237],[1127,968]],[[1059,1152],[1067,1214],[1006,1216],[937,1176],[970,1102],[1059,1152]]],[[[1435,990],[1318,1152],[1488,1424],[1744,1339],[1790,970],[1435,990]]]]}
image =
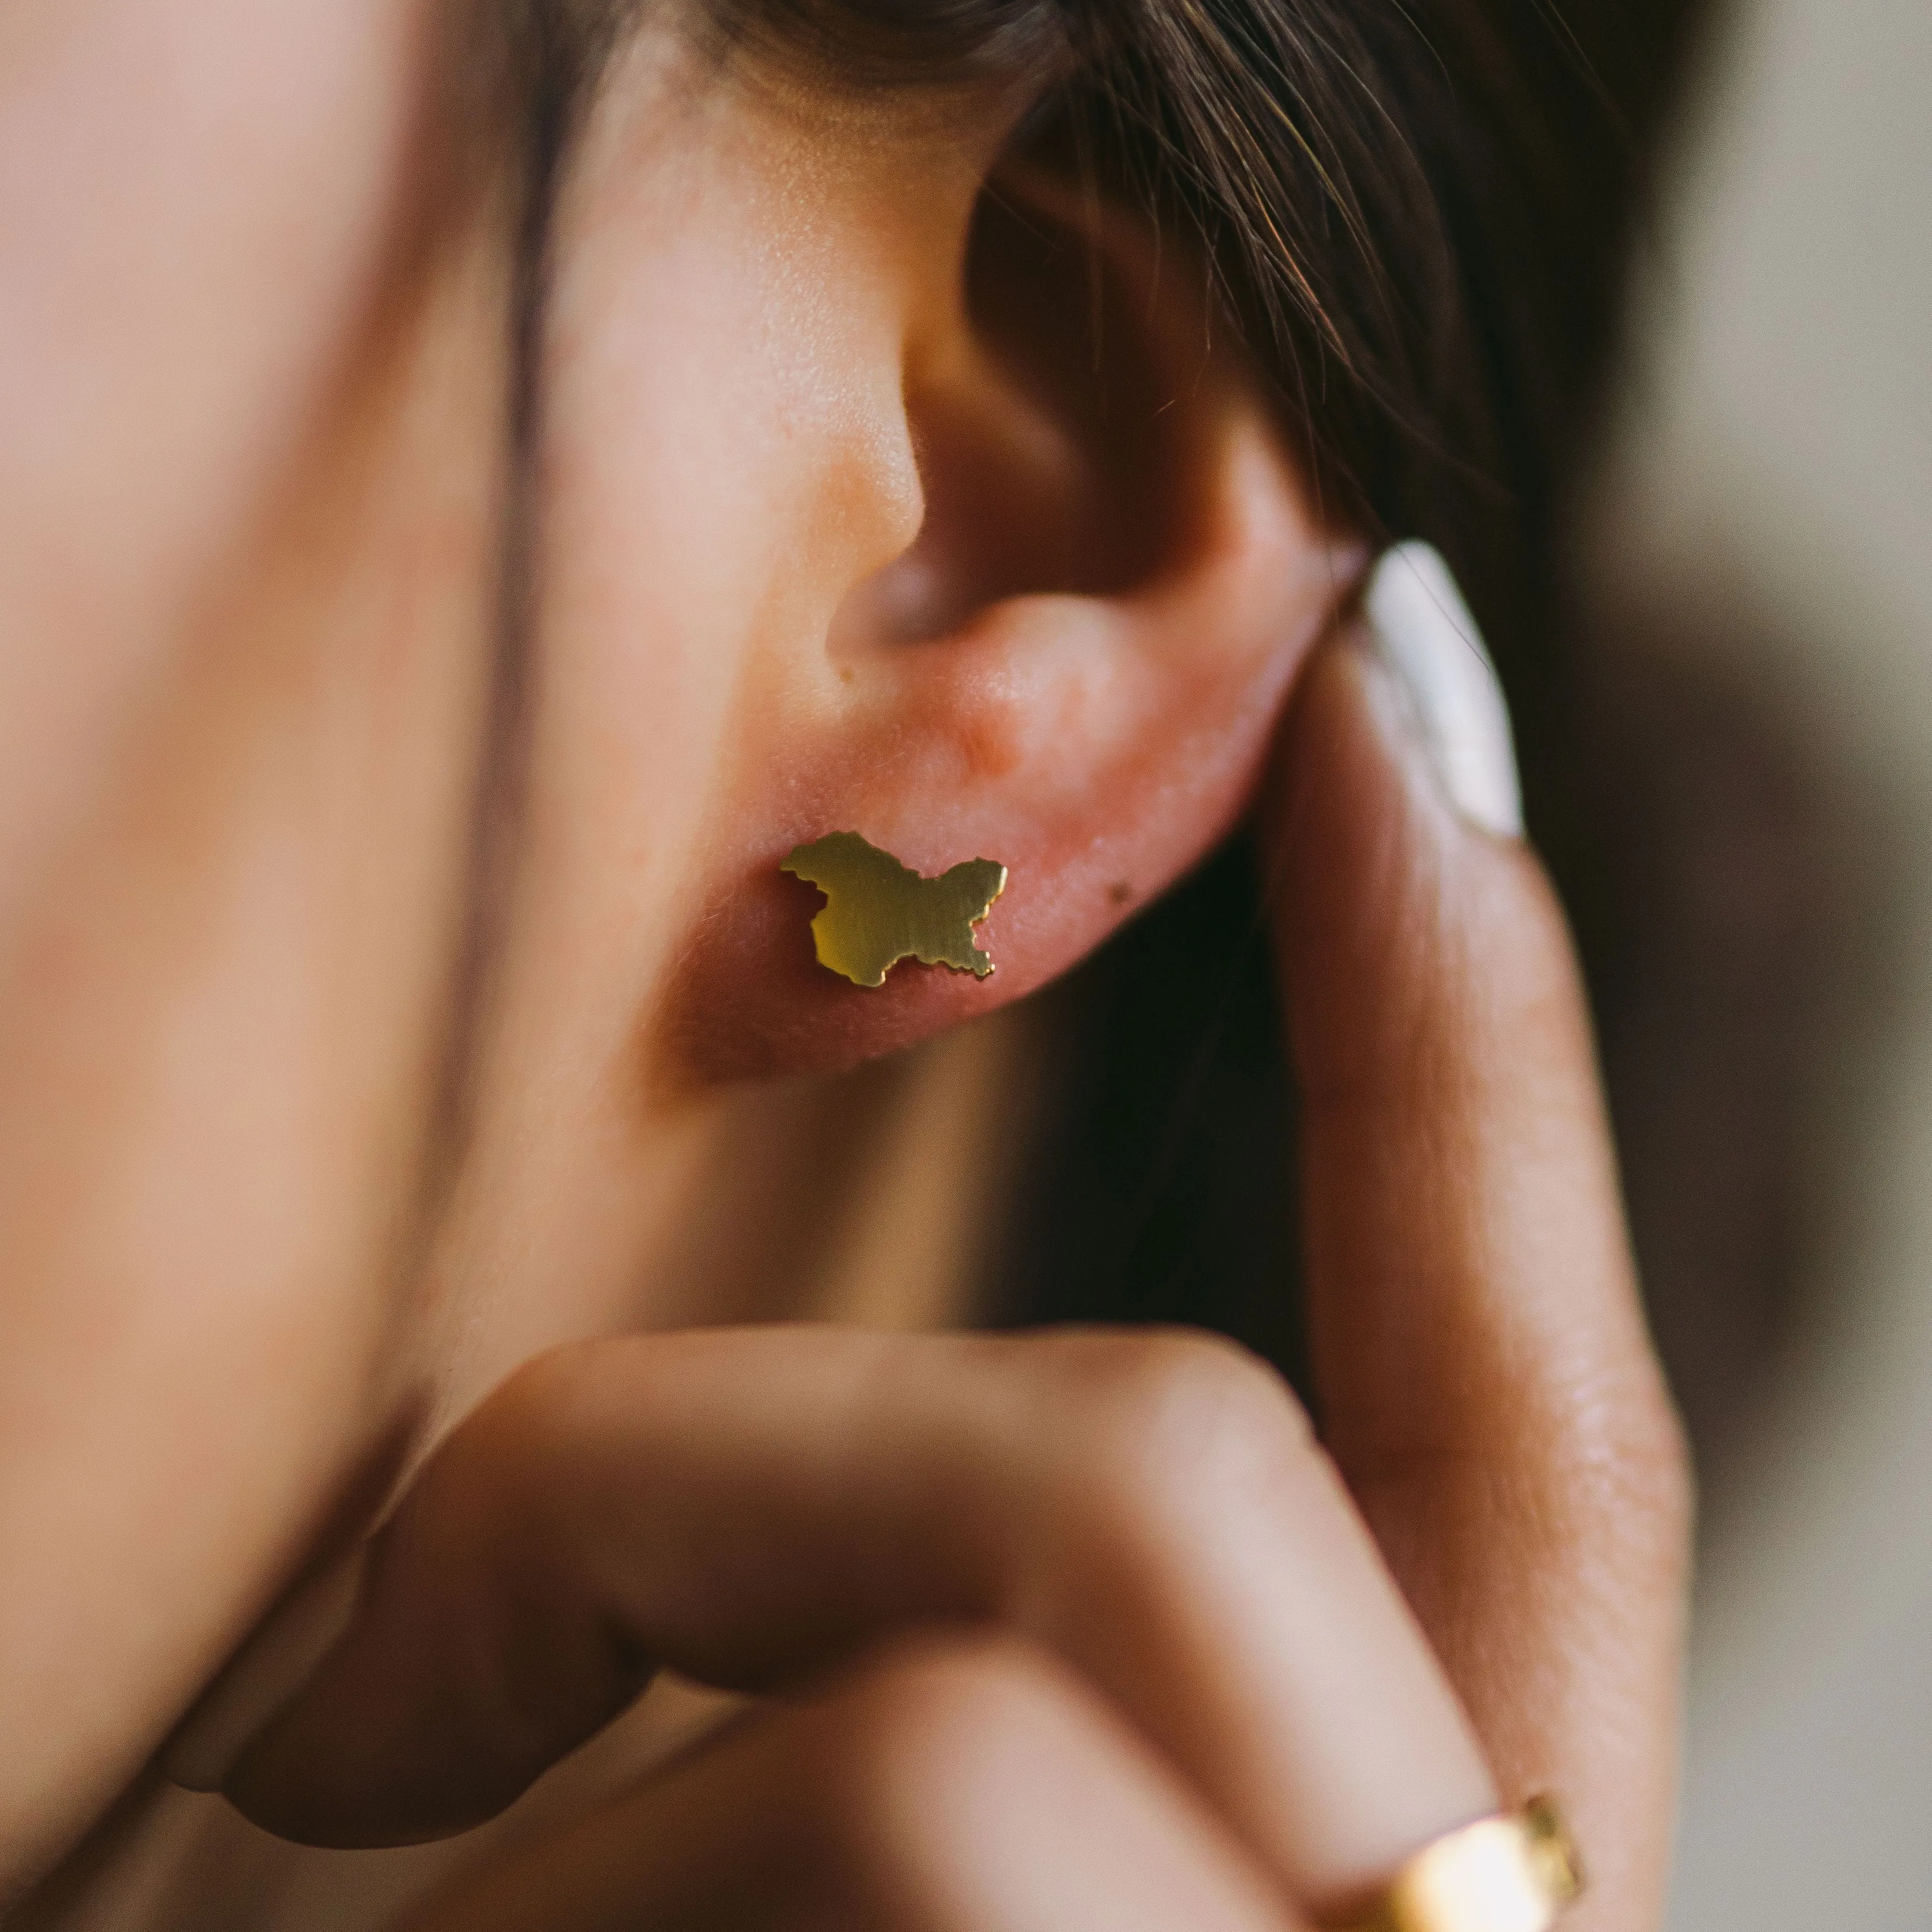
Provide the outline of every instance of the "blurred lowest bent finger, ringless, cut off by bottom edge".
{"type": "Polygon", "coordinates": [[[1296,1932],[1225,1826],[1018,1644],[900,1648],[404,1932],[1296,1932]]]}

